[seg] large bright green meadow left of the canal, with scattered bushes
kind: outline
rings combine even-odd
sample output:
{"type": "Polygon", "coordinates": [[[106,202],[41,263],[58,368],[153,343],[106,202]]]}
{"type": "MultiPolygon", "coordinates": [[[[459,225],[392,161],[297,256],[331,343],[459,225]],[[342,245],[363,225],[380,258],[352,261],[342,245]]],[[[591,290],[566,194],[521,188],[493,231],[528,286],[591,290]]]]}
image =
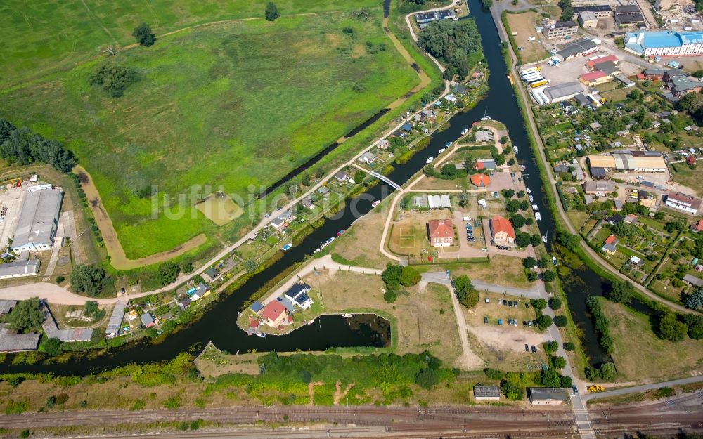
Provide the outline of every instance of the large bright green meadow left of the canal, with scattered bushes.
{"type": "MultiPolygon", "coordinates": [[[[309,6],[300,11],[318,8],[302,3],[309,6]]],[[[110,15],[111,7],[101,4],[105,11],[97,16],[110,15]]],[[[202,16],[220,11],[214,3],[200,7],[202,16]]],[[[242,15],[253,6],[232,9],[242,15]]],[[[157,17],[159,11],[165,13],[155,9],[157,17]]],[[[198,199],[222,191],[247,209],[261,186],[418,83],[382,32],[381,9],[373,13],[369,21],[330,12],[178,32],[110,58],[141,77],[122,98],[89,86],[87,78],[104,60],[88,60],[8,89],[0,95],[0,116],[75,152],[127,258],[174,249],[201,232],[231,236],[250,223],[247,216],[218,228],[195,209],[198,199]],[[342,32],[347,27],[354,31],[342,32]]],[[[105,27],[129,40],[127,25],[115,26],[119,32],[105,27]]]]}

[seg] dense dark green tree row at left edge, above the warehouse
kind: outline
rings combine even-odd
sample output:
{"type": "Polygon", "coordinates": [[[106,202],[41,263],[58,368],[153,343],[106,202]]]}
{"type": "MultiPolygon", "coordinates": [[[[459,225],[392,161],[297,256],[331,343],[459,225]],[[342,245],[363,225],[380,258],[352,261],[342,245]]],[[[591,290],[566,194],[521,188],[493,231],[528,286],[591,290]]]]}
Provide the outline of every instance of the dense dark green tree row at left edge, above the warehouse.
{"type": "Polygon", "coordinates": [[[46,139],[26,127],[17,128],[5,119],[0,119],[0,157],[8,164],[50,164],[63,173],[76,165],[72,152],[56,140],[46,139]]]}

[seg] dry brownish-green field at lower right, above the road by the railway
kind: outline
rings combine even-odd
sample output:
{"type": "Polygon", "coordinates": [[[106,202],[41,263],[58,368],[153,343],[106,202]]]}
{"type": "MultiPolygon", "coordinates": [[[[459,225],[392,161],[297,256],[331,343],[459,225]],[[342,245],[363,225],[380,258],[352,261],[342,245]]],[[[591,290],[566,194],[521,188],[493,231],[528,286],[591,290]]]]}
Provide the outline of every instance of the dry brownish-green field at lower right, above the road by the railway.
{"type": "Polygon", "coordinates": [[[652,332],[647,315],[605,299],[601,301],[610,321],[613,358],[622,381],[666,381],[702,372],[702,341],[688,337],[678,343],[659,339],[652,332]]]}

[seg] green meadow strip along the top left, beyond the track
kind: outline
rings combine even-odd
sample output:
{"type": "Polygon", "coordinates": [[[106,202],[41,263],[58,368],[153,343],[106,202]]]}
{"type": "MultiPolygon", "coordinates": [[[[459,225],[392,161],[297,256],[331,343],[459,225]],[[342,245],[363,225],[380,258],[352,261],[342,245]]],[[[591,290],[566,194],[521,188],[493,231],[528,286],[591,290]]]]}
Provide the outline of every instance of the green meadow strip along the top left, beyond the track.
{"type": "MultiPolygon", "coordinates": [[[[378,6],[370,0],[278,0],[281,15],[378,6]]],[[[18,84],[93,58],[109,45],[134,44],[131,32],[148,22],[157,36],[206,22],[263,18],[252,0],[7,0],[0,2],[0,84],[18,84]]]]}

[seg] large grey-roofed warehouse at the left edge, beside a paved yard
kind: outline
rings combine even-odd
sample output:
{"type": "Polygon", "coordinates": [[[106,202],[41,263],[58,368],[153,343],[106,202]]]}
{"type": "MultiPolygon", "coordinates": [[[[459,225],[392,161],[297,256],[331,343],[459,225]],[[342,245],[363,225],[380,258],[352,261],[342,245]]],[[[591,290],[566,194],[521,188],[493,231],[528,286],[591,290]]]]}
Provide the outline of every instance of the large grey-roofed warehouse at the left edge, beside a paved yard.
{"type": "Polygon", "coordinates": [[[63,191],[44,188],[27,190],[12,240],[12,251],[46,251],[53,247],[63,191]]]}

